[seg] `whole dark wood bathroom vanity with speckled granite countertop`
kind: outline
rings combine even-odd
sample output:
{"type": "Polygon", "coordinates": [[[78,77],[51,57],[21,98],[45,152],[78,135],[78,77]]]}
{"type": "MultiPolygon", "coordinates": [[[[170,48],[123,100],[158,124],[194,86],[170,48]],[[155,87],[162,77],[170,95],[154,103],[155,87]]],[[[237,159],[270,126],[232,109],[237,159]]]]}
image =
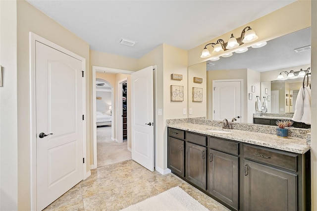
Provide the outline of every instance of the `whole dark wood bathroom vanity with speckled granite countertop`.
{"type": "Polygon", "coordinates": [[[168,168],[230,210],[310,210],[306,139],[188,122],[167,130],[168,168]]]}

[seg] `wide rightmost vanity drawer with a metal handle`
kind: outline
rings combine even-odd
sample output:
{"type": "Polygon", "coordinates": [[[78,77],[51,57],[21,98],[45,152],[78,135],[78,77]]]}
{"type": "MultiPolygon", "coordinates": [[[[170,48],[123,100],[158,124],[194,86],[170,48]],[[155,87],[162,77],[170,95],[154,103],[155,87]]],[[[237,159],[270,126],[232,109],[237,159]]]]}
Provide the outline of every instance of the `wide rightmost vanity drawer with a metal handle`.
{"type": "Polygon", "coordinates": [[[286,168],[292,171],[297,171],[298,156],[296,154],[244,145],[244,157],[286,168]]]}

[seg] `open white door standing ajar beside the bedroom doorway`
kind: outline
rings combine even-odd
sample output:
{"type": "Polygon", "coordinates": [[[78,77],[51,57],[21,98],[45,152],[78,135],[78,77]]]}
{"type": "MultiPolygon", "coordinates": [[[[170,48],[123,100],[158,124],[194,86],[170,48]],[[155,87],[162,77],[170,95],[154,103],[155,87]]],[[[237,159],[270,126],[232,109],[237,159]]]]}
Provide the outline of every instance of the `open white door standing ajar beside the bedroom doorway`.
{"type": "Polygon", "coordinates": [[[153,66],[131,74],[132,159],[154,171],[153,66]]]}

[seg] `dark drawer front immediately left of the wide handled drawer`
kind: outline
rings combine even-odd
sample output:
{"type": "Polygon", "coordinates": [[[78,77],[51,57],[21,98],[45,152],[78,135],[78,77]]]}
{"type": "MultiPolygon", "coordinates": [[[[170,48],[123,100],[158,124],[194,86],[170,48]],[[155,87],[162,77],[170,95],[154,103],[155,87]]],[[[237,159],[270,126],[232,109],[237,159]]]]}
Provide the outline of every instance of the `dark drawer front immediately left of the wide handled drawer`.
{"type": "Polygon", "coordinates": [[[237,142],[210,137],[209,147],[220,152],[239,155],[239,143],[237,142]]]}

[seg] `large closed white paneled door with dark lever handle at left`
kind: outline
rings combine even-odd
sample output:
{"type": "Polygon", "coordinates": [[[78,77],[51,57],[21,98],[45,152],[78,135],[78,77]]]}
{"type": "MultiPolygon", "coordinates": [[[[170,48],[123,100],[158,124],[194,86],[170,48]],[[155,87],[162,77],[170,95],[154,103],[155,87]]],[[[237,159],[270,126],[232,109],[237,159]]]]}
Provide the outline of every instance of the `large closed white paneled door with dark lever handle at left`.
{"type": "Polygon", "coordinates": [[[83,179],[82,61],[36,42],[36,191],[43,210],[83,179]]]}

